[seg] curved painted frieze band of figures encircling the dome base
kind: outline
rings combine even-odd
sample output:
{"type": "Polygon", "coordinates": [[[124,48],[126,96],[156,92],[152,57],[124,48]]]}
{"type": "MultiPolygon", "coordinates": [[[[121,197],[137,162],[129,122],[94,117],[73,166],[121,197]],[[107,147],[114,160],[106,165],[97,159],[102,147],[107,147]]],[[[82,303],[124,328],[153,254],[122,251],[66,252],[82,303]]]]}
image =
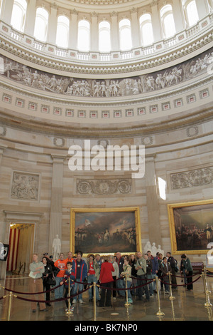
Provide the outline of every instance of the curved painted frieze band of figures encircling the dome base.
{"type": "Polygon", "coordinates": [[[0,76],[18,81],[25,86],[67,96],[113,98],[158,91],[195,78],[207,71],[208,66],[213,63],[213,48],[177,66],[143,76],[116,79],[96,80],[54,75],[2,55],[0,61],[3,64],[0,76]]]}

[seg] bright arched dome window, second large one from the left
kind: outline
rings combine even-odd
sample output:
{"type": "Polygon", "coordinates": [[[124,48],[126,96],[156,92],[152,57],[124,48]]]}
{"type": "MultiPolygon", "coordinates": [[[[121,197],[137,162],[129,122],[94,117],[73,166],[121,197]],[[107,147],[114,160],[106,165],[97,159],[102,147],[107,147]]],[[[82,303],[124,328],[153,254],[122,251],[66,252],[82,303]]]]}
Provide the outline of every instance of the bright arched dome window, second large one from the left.
{"type": "Polygon", "coordinates": [[[49,13],[45,9],[38,7],[35,14],[34,37],[45,42],[48,33],[49,13]]]}

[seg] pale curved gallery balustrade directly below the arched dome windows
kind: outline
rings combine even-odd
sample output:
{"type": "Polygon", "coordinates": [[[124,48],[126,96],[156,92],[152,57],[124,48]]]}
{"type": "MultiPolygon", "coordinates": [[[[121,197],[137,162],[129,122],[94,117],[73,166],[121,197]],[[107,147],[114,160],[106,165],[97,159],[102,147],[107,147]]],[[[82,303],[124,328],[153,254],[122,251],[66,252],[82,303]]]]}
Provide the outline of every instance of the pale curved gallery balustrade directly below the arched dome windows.
{"type": "Polygon", "coordinates": [[[61,58],[61,61],[70,61],[73,63],[125,63],[126,61],[138,61],[141,58],[146,61],[146,58],[159,56],[161,53],[166,53],[172,48],[178,48],[183,46],[185,43],[193,43],[193,39],[197,37],[201,38],[202,34],[211,29],[212,26],[212,16],[213,14],[208,14],[203,19],[197,22],[194,26],[191,26],[183,31],[179,31],[174,36],[166,39],[157,41],[149,46],[138,46],[129,51],[111,51],[109,53],[101,53],[99,51],[89,51],[81,52],[77,49],[71,48],[59,48],[53,43],[41,42],[36,40],[33,36],[26,33],[21,33],[12,26],[6,24],[4,21],[0,21],[0,31],[2,36],[7,36],[11,41],[16,41],[16,43],[21,46],[26,46],[26,48],[40,53],[41,55],[46,55],[55,58],[61,58]]]}

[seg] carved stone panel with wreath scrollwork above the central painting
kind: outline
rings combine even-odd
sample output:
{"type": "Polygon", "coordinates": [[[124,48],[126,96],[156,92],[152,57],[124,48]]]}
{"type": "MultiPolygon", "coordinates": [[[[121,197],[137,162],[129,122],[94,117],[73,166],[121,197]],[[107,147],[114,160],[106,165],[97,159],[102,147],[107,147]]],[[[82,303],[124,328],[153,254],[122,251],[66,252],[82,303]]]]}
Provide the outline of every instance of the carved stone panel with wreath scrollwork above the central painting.
{"type": "Polygon", "coordinates": [[[125,179],[77,179],[76,192],[80,195],[128,194],[132,190],[131,178],[125,179]]]}

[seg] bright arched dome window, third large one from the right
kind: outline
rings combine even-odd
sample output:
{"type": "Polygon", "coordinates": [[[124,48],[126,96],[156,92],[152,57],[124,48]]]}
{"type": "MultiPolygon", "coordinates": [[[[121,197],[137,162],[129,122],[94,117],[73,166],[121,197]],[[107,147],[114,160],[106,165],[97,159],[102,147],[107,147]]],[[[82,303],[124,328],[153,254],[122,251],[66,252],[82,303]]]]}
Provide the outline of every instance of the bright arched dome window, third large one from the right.
{"type": "Polygon", "coordinates": [[[139,19],[139,23],[141,31],[141,45],[147,46],[148,44],[152,44],[154,38],[151,15],[143,14],[139,19]]]}

